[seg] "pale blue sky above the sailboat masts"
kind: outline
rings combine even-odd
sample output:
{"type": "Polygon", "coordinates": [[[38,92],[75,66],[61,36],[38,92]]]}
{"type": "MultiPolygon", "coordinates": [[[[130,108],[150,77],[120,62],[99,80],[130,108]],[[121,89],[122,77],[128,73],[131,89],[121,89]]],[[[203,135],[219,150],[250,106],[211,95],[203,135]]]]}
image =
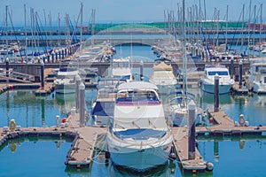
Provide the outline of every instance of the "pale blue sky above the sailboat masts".
{"type": "MultiPolygon", "coordinates": [[[[229,5],[229,20],[238,21],[242,10],[242,5],[246,4],[247,9],[250,0],[205,0],[207,19],[214,17],[215,8],[220,10],[220,19],[225,18],[226,7],[229,5]]],[[[186,7],[197,4],[203,8],[204,0],[185,0],[186,7]]],[[[115,23],[115,22],[152,22],[163,21],[164,11],[177,12],[177,6],[182,5],[182,0],[0,0],[1,22],[4,21],[5,5],[9,5],[12,12],[14,25],[24,24],[24,4],[27,6],[27,21],[30,20],[29,9],[34,8],[40,18],[44,21],[44,12],[48,20],[51,12],[53,24],[58,24],[58,16],[63,23],[66,13],[70,18],[77,19],[83,4],[83,24],[89,24],[92,9],[95,9],[96,23],[115,23]]],[[[256,5],[259,9],[260,4],[266,9],[266,0],[252,0],[252,6],[256,5]],[[264,4],[263,4],[264,3],[264,4]]],[[[263,9],[262,8],[262,9],[263,9]]],[[[266,11],[262,14],[263,22],[266,21],[266,11]]]]}

